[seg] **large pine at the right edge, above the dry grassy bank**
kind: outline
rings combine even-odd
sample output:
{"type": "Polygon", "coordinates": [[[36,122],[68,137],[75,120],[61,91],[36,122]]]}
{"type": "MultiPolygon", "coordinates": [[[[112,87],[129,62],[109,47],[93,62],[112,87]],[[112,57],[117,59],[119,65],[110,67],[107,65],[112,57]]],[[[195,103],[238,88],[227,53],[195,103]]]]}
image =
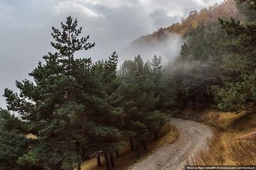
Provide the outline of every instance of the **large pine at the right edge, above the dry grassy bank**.
{"type": "Polygon", "coordinates": [[[231,37],[219,67],[225,86],[216,95],[218,109],[225,111],[244,110],[256,99],[256,4],[251,0],[237,3],[245,19],[219,19],[231,37]]]}

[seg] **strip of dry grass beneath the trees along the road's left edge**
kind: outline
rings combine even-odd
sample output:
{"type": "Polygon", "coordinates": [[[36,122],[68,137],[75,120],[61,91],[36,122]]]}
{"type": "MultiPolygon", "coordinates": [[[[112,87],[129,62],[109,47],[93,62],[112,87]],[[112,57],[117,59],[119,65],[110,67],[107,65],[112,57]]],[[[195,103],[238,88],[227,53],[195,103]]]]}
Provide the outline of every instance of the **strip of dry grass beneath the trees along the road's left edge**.
{"type": "MultiPolygon", "coordinates": [[[[137,153],[130,151],[130,146],[126,146],[120,150],[120,157],[115,158],[116,168],[112,168],[114,170],[126,169],[136,163],[139,163],[147,156],[153,154],[159,148],[164,145],[168,145],[169,143],[174,142],[179,138],[179,131],[174,125],[165,124],[162,129],[159,131],[158,139],[151,139],[147,143],[147,150],[140,150],[140,158],[138,158],[137,153]]],[[[91,159],[86,161],[82,165],[82,170],[101,170],[105,168],[105,161],[103,157],[100,157],[102,166],[97,167],[97,159],[91,159]]]]}

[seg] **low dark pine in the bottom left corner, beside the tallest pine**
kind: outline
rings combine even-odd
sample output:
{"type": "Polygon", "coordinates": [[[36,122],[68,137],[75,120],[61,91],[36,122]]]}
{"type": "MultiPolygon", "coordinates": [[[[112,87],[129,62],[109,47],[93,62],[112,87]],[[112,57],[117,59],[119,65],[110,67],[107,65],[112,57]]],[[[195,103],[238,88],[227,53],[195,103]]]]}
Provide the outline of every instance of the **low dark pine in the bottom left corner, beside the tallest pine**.
{"type": "Polygon", "coordinates": [[[25,122],[7,110],[0,109],[0,169],[33,169],[18,164],[19,157],[27,153],[32,142],[25,137],[25,122]]]}

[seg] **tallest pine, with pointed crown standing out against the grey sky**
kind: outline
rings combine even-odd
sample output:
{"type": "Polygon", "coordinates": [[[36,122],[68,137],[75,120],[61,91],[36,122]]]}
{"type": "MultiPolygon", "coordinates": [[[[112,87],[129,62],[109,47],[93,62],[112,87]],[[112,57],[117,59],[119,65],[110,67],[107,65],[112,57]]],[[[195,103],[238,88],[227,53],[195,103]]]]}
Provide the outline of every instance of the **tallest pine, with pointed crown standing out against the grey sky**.
{"type": "MultiPolygon", "coordinates": [[[[93,153],[94,143],[88,136],[94,125],[88,115],[97,113],[105,105],[104,92],[91,74],[90,58],[75,59],[74,54],[90,49],[89,36],[79,39],[82,28],[77,20],[67,17],[62,31],[53,27],[49,52],[29,74],[34,82],[16,81],[20,93],[5,89],[8,109],[18,112],[28,123],[28,131],[38,136],[30,151],[19,159],[21,165],[44,169],[72,169],[80,166],[82,158],[93,153]]],[[[105,105],[107,107],[107,105],[105,105]]],[[[105,109],[105,108],[104,108],[105,109]]],[[[100,110],[101,111],[101,110],[100,110]]]]}

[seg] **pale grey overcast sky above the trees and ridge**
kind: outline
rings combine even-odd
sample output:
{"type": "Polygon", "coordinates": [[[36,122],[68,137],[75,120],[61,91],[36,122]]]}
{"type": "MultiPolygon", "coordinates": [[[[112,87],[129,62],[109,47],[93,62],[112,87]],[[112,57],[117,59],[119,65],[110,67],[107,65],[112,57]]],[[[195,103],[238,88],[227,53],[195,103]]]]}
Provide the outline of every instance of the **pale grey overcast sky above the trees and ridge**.
{"type": "MultiPolygon", "coordinates": [[[[15,80],[28,73],[42,56],[53,51],[51,26],[74,16],[96,47],[79,54],[93,60],[106,58],[143,34],[152,33],[219,0],[1,0],[0,1],[0,107],[4,88],[15,90],[15,80]]],[[[125,58],[119,55],[120,60],[125,58]]],[[[134,56],[131,56],[133,58],[134,56]]]]}

